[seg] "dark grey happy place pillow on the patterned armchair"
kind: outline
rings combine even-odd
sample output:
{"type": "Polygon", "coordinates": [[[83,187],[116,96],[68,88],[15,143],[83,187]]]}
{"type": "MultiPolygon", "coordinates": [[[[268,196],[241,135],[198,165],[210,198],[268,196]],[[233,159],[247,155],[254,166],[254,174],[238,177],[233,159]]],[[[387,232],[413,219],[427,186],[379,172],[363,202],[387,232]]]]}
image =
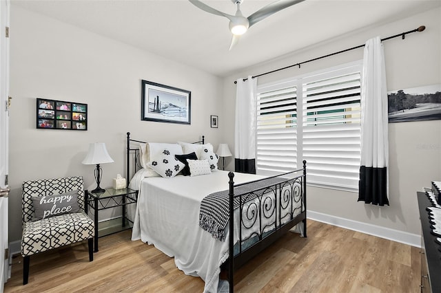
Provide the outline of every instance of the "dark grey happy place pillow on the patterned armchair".
{"type": "Polygon", "coordinates": [[[34,221],[70,213],[79,213],[78,191],[69,191],[61,195],[32,197],[34,221]]]}

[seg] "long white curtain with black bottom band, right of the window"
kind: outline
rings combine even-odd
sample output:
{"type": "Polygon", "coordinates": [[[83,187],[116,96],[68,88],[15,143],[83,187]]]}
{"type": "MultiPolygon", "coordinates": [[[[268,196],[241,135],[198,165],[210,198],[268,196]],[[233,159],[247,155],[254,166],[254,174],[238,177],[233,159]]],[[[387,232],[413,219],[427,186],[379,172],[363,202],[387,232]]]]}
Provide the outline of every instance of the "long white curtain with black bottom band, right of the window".
{"type": "Polygon", "coordinates": [[[389,141],[384,50],[380,37],[365,45],[361,91],[361,166],[358,201],[389,205],[389,141]]]}

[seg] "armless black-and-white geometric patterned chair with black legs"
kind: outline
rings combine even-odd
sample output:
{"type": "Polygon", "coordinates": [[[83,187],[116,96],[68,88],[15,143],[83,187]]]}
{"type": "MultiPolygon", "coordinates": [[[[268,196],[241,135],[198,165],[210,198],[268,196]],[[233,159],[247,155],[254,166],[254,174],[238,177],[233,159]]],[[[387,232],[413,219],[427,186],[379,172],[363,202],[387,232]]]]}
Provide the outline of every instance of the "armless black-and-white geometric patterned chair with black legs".
{"type": "Polygon", "coordinates": [[[23,285],[28,283],[30,256],[88,239],[89,261],[93,261],[94,221],[84,213],[83,177],[65,177],[23,182],[23,285]],[[80,213],[68,213],[34,220],[32,197],[78,191],[80,213]]]}

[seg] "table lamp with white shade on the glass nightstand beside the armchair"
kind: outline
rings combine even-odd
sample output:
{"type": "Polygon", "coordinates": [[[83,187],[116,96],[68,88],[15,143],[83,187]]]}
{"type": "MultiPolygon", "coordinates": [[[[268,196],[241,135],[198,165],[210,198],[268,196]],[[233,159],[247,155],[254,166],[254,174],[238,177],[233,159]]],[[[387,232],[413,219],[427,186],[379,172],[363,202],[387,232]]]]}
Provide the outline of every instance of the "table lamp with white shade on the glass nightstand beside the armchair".
{"type": "Polygon", "coordinates": [[[96,188],[91,191],[92,193],[103,193],[104,189],[99,186],[101,182],[101,177],[103,177],[103,169],[99,164],[113,163],[114,161],[110,158],[107,149],[105,148],[104,142],[94,142],[89,145],[88,155],[85,156],[83,164],[92,165],[96,164],[96,169],[94,171],[96,188]]]}

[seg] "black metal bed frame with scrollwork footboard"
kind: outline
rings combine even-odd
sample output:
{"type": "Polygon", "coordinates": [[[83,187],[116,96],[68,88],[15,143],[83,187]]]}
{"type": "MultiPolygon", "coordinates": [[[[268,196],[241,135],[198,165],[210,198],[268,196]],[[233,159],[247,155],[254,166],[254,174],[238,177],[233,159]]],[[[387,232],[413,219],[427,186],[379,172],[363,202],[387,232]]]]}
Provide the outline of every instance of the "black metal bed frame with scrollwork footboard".
{"type": "MultiPolygon", "coordinates": [[[[130,148],[130,142],[145,143],[140,140],[132,140],[130,132],[127,132],[127,184],[130,178],[130,151],[135,152],[135,170],[139,167],[139,149],[130,148]]],[[[204,136],[202,140],[194,143],[204,144],[204,136]]],[[[247,261],[262,252],[270,246],[274,241],[279,239],[286,232],[291,230],[297,224],[303,224],[303,237],[307,237],[307,207],[306,207],[306,161],[303,161],[302,169],[283,173],[269,178],[280,177],[283,180],[276,184],[269,184],[265,187],[256,188],[246,193],[236,193],[238,187],[244,184],[234,184],[234,173],[229,172],[229,219],[234,219],[234,200],[240,203],[238,217],[239,240],[236,243],[238,253],[234,254],[234,221],[229,221],[229,258],[221,268],[228,271],[229,292],[234,292],[234,272],[238,270],[247,261]],[[252,201],[250,201],[252,199],[252,201]],[[263,220],[270,222],[263,225],[263,220]],[[250,226],[251,225],[251,226],[250,226]],[[243,229],[256,228],[256,232],[252,232],[248,237],[243,238],[243,229]],[[244,248],[245,241],[252,238],[258,239],[251,246],[244,248]],[[234,257],[232,257],[232,255],[234,257]]]]}

